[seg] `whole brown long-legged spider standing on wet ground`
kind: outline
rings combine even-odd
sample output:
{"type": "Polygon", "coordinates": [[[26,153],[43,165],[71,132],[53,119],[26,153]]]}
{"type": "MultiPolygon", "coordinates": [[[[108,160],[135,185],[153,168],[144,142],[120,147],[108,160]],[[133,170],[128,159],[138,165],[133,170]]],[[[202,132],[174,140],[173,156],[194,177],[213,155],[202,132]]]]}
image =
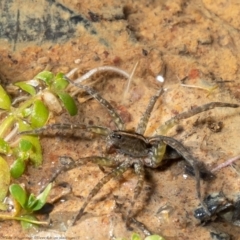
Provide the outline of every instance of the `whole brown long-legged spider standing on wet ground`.
{"type": "MultiPolygon", "coordinates": [[[[202,177],[212,177],[212,173],[207,170],[205,165],[202,162],[196,160],[179,141],[172,137],[164,136],[167,131],[176,125],[180,120],[192,117],[198,113],[208,111],[216,107],[231,107],[238,108],[238,104],[224,103],[224,102],[211,102],[199,107],[195,107],[186,112],[180,113],[173,118],[166,121],[162,126],[156,129],[155,135],[152,137],[145,137],[144,133],[148,120],[150,118],[152,109],[157,101],[157,99],[163,94],[163,89],[158,90],[157,94],[152,96],[149,104],[142,115],[136,131],[128,131],[125,129],[124,122],[116,112],[114,107],[92,87],[82,85],[80,83],[75,83],[69,78],[66,79],[77,88],[81,88],[90,94],[94,99],[96,99],[101,105],[103,105],[109,112],[112,117],[116,130],[111,130],[103,126],[90,126],[84,124],[52,124],[47,125],[43,128],[35,129],[33,131],[23,132],[24,134],[43,134],[47,130],[75,130],[75,129],[84,129],[94,134],[103,135],[106,137],[108,153],[117,152],[123,154],[126,158],[124,161],[120,162],[117,159],[109,158],[106,156],[89,156],[85,158],[80,158],[78,160],[63,161],[63,166],[58,169],[53,176],[49,179],[49,182],[54,181],[59,174],[62,172],[68,171],[70,169],[79,167],[85,161],[91,161],[95,164],[98,164],[100,168],[111,167],[109,173],[106,173],[105,176],[96,184],[96,186],[90,191],[89,195],[85,199],[81,209],[78,211],[76,216],[73,219],[72,225],[83,216],[85,208],[87,207],[90,200],[100,191],[100,189],[112,178],[121,176],[130,168],[134,168],[136,175],[138,176],[138,181],[134,189],[133,198],[131,201],[131,208],[133,209],[134,203],[141,193],[143,184],[144,184],[144,170],[145,167],[157,168],[162,163],[163,160],[176,159],[183,157],[187,163],[190,165],[194,171],[196,179],[196,192],[197,197],[206,211],[210,214],[205,202],[202,200],[201,191],[200,191],[200,178],[202,177]]],[[[133,211],[129,210],[127,214],[128,219],[133,217],[133,211]]]]}

